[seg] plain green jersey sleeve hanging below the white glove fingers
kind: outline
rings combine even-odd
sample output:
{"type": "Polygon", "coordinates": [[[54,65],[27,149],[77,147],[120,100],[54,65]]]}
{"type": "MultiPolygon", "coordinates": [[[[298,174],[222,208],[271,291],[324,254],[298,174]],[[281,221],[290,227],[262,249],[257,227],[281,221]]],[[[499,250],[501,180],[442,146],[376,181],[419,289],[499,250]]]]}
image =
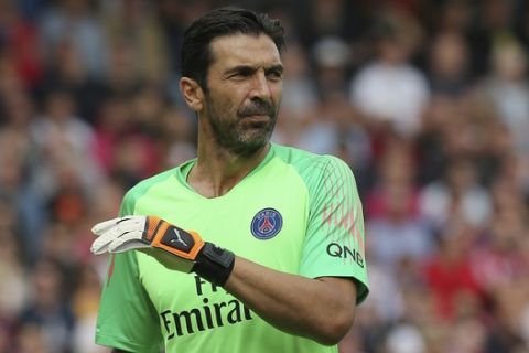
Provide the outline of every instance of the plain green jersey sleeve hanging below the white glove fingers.
{"type": "MultiPolygon", "coordinates": [[[[120,215],[132,214],[130,197],[120,215]]],[[[96,343],[128,352],[160,352],[163,342],[154,307],[139,281],[136,252],[112,255],[104,284],[96,343]]]]}

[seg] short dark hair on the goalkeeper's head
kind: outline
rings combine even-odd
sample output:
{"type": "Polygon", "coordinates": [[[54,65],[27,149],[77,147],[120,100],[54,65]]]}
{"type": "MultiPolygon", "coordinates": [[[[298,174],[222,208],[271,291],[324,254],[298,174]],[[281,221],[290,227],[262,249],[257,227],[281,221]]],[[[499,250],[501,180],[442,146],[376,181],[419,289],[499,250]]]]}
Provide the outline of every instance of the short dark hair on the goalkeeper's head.
{"type": "Polygon", "coordinates": [[[181,52],[182,76],[193,78],[207,92],[207,73],[213,61],[209,44],[216,38],[231,34],[264,34],[280,53],[284,47],[284,30],[279,20],[235,7],[216,9],[185,30],[181,52]]]}

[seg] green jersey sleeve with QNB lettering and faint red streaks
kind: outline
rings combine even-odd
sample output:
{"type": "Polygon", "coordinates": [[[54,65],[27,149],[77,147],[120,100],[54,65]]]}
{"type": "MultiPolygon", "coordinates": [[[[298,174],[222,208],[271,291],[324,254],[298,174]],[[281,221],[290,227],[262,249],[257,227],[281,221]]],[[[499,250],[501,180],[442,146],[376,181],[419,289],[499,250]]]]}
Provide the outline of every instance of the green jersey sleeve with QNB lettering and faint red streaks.
{"type": "Polygon", "coordinates": [[[300,274],[310,278],[349,277],[358,284],[357,302],[369,290],[364,252],[364,216],[350,168],[325,157],[305,176],[310,193],[309,226],[300,274]]]}

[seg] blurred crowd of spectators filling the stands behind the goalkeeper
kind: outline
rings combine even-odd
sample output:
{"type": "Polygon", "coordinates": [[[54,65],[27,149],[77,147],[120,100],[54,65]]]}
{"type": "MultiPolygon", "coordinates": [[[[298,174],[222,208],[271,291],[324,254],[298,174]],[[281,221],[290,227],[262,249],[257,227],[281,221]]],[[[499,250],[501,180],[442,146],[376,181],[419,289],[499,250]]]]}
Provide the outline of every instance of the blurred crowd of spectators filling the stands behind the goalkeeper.
{"type": "MultiPolygon", "coordinates": [[[[89,229],[195,156],[182,33],[227,3],[0,0],[1,353],[108,352],[89,229]]],[[[273,141],[356,176],[371,293],[341,352],[529,352],[529,3],[229,3],[287,30],[273,141]]]]}

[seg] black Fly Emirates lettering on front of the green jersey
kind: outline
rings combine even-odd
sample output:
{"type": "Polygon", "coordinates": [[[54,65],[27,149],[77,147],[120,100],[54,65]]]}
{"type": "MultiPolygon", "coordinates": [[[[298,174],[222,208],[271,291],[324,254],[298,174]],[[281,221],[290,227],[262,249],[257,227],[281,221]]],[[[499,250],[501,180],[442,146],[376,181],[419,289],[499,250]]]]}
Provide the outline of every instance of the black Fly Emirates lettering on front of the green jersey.
{"type": "Polygon", "coordinates": [[[252,319],[250,309],[235,298],[228,301],[209,302],[205,292],[216,292],[223,290],[222,288],[198,276],[195,276],[195,285],[196,296],[202,298],[203,306],[179,312],[165,310],[160,313],[168,340],[175,335],[182,336],[252,319]]]}

